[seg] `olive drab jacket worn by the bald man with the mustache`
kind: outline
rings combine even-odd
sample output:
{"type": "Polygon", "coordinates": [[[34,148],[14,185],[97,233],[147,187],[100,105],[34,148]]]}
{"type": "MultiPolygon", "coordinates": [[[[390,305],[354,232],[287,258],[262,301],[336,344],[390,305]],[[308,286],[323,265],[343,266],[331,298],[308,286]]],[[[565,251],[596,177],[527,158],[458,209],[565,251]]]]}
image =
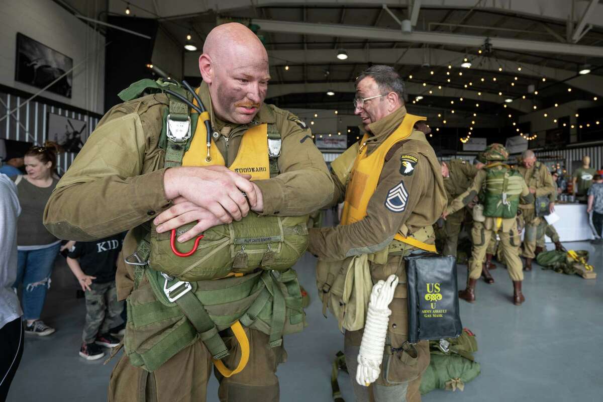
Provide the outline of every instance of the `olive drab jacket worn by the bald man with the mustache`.
{"type": "MultiPolygon", "coordinates": [[[[250,124],[221,122],[213,113],[207,84],[201,84],[199,95],[213,127],[227,134],[214,139],[226,166],[235,160],[245,130],[276,122],[282,139],[280,174],[254,181],[264,198],[260,215],[306,215],[333,198],[333,182],[323,156],[300,119],[262,104],[250,124]]],[[[159,147],[168,106],[166,95],[155,94],[107,112],[46,205],[44,224],[52,234],[61,239],[92,240],[130,230],[124,240],[124,256],[136,250],[137,238],[144,236],[139,225],[171,206],[163,189],[165,151],[159,147]]],[[[116,275],[120,300],[130,294],[132,278],[131,266],[120,260],[116,275]]]]}

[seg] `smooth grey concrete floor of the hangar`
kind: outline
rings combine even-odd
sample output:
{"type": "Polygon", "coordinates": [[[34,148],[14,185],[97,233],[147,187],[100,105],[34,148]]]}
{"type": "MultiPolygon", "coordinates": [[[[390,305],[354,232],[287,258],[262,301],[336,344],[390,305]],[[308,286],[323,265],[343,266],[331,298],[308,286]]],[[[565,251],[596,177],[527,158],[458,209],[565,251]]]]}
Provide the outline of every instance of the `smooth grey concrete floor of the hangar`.
{"type": "MultiPolygon", "coordinates": [[[[551,245],[548,245],[549,248],[551,245]]],[[[603,247],[588,242],[566,243],[567,248],[590,251],[590,262],[603,271],[603,247]]],[[[308,328],[287,336],[288,362],[280,366],[282,401],[331,401],[330,370],[343,336],[336,320],[321,314],[314,280],[315,259],[308,253],[297,263],[301,284],[311,304],[308,328]]],[[[500,267],[500,265],[499,265],[500,267]]],[[[459,289],[466,266],[458,269],[459,289]]],[[[478,282],[475,304],[461,301],[464,327],[478,337],[476,361],[482,373],[464,392],[433,391],[423,397],[435,401],[602,401],[603,277],[584,280],[535,266],[526,272],[526,303],[511,304],[513,293],[507,271],[492,271],[496,283],[478,282]]],[[[75,298],[77,283],[62,257],[52,274],[52,288],[42,318],[57,328],[46,338],[26,338],[21,365],[8,401],[106,401],[113,359],[87,362],[78,356],[84,322],[83,299],[75,298]]],[[[339,375],[343,396],[353,401],[349,377],[339,375]]],[[[208,400],[217,401],[212,379],[208,400]]]]}

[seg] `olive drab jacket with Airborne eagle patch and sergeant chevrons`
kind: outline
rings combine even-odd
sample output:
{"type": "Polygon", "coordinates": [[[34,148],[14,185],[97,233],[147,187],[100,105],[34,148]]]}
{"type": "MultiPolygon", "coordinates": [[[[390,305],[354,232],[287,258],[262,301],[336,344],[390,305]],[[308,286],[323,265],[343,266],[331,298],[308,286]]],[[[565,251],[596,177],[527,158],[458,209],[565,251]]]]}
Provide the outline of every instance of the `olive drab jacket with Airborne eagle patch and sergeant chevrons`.
{"type": "MultiPolygon", "coordinates": [[[[369,126],[373,136],[367,140],[368,155],[399,127],[405,115],[406,108],[401,107],[369,126]]],[[[408,234],[412,234],[418,228],[431,226],[440,218],[446,207],[440,163],[425,134],[414,130],[406,138],[411,139],[418,141],[402,141],[402,146],[394,145],[385,156],[377,188],[368,201],[367,216],[364,219],[348,225],[311,229],[308,250],[312,254],[323,260],[336,261],[349,256],[376,253],[391,243],[403,225],[408,228],[408,234]],[[412,171],[405,169],[403,157],[417,160],[412,171]],[[401,183],[408,199],[405,200],[406,207],[402,211],[394,212],[387,207],[386,201],[388,194],[395,191],[401,183]]],[[[346,152],[358,154],[358,149],[359,145],[356,144],[346,152]]],[[[343,202],[348,183],[343,183],[336,172],[333,172],[332,177],[335,193],[331,204],[335,205],[343,202]]]]}

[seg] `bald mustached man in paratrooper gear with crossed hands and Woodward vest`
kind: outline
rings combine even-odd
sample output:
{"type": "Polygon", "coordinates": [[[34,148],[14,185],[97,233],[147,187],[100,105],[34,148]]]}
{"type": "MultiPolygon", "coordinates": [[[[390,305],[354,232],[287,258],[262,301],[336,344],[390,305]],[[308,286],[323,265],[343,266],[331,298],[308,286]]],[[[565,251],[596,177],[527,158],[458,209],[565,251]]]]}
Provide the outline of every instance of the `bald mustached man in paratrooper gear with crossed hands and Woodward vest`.
{"type": "Polygon", "coordinates": [[[205,401],[212,362],[221,401],[277,401],[283,334],[304,326],[290,268],[308,214],[333,198],[323,157],[300,119],[264,104],[268,55],[247,27],[214,28],[199,66],[196,90],[124,90],[132,100],[99,122],[46,206],[62,239],[130,230],[110,401],[205,401]]]}

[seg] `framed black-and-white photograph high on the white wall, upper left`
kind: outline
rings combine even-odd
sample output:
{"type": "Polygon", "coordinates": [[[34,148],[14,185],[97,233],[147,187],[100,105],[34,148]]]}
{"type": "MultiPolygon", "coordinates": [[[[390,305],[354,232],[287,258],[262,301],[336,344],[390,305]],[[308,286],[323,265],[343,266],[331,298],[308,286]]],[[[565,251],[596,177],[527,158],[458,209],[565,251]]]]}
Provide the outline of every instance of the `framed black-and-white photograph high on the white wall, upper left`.
{"type": "Polygon", "coordinates": [[[48,88],[50,92],[71,98],[71,86],[74,61],[54,49],[31,39],[22,33],[17,33],[17,62],[14,79],[43,88],[57,80],[48,88]],[[69,74],[66,72],[69,71],[69,74]]]}

